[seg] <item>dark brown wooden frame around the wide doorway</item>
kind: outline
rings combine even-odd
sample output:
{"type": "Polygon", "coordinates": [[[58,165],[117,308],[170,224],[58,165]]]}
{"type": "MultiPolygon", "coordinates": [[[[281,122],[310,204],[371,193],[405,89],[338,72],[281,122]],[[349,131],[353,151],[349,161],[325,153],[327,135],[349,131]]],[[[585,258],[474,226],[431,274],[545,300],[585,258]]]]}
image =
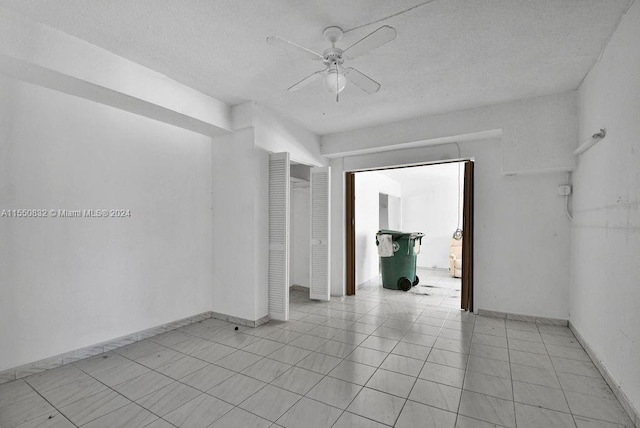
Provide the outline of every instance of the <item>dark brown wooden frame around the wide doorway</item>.
{"type": "Polygon", "coordinates": [[[399,166],[390,168],[373,168],[368,170],[345,172],[345,220],[346,220],[346,294],[356,294],[356,228],[355,228],[355,174],[356,172],[380,171],[417,166],[438,165],[453,162],[464,162],[464,195],[462,219],[462,290],[460,308],[473,311],[473,195],[474,195],[474,162],[471,160],[425,163],[421,165],[399,166]]]}

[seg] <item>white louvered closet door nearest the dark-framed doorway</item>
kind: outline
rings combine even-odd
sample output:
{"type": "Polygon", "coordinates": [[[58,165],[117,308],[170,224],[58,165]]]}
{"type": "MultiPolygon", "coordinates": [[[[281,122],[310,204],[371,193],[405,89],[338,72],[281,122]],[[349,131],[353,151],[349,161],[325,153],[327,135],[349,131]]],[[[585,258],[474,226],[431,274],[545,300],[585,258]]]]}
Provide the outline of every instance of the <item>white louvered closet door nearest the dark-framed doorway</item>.
{"type": "Polygon", "coordinates": [[[311,168],[311,287],[309,297],[329,300],[331,168],[311,168]]]}

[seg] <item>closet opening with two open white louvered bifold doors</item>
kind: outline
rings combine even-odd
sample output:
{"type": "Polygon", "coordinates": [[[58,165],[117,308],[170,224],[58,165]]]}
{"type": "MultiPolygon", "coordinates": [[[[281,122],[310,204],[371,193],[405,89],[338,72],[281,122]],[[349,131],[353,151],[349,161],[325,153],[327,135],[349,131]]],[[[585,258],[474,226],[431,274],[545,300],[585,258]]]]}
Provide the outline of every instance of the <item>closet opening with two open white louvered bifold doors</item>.
{"type": "Polygon", "coordinates": [[[268,314],[287,321],[292,285],[307,289],[310,299],[330,298],[331,169],[293,162],[281,152],[269,154],[268,171],[268,314]]]}

